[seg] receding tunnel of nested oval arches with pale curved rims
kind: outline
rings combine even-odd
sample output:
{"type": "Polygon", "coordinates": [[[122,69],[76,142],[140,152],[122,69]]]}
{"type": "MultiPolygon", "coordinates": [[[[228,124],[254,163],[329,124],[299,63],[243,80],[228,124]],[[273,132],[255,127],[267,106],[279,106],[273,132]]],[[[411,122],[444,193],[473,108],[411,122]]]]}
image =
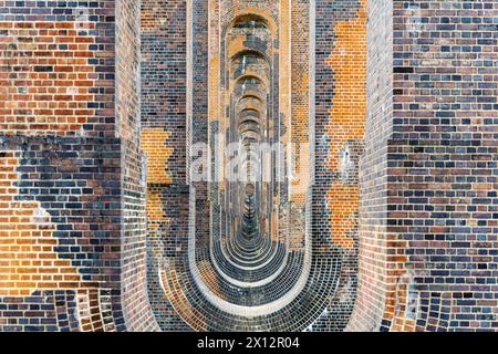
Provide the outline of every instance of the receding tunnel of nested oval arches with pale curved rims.
{"type": "MultiPolygon", "coordinates": [[[[356,279],[344,274],[353,273],[356,264],[359,205],[352,200],[349,211],[334,216],[346,227],[331,238],[333,225],[317,207],[343,196],[333,188],[326,195],[315,180],[332,178],[350,187],[359,185],[359,176],[352,168],[343,181],[329,167],[317,173],[312,166],[313,142],[326,133],[312,124],[318,98],[312,95],[313,9],[310,3],[298,9],[279,1],[211,6],[216,10],[208,11],[219,18],[208,23],[206,53],[203,56],[195,44],[186,53],[191,80],[187,119],[193,121],[186,131],[190,170],[181,188],[189,197],[189,222],[175,220],[188,223],[181,241],[160,230],[149,246],[148,278],[159,280],[151,281],[148,291],[157,299],[152,304],[160,313],[159,326],[170,330],[176,316],[196,331],[345,329],[356,279]],[[207,65],[196,65],[201,60],[207,65]],[[208,88],[204,104],[198,85],[208,88]],[[344,240],[346,246],[341,244],[344,240]],[[174,254],[164,252],[165,242],[177,244],[174,254]],[[347,303],[334,306],[341,288],[347,303]],[[172,310],[175,316],[166,314],[172,310]],[[334,312],[343,320],[334,320],[334,312]]],[[[201,24],[196,23],[196,10],[187,10],[195,32],[201,24]]],[[[356,15],[361,11],[356,9],[356,15]]],[[[194,32],[188,41],[198,40],[200,32],[194,32]]],[[[359,70],[362,64],[359,59],[359,70]]],[[[365,105],[356,110],[353,127],[362,131],[365,105]]],[[[341,138],[351,146],[350,165],[357,166],[362,134],[354,136],[344,126],[341,138]]],[[[351,197],[357,198],[354,192],[351,197]]]]}

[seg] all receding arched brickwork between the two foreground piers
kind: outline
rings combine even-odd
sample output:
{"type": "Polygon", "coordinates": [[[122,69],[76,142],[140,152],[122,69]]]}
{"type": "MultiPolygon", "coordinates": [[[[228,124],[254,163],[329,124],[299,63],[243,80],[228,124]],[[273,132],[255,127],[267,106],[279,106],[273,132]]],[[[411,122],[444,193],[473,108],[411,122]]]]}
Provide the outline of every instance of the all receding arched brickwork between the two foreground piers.
{"type": "Polygon", "coordinates": [[[183,6],[143,4],[148,282],[159,325],[165,331],[185,326],[198,331],[343,330],[356,284],[366,2],[322,2],[317,15],[308,1],[212,0],[183,6]],[[178,21],[184,14],[188,15],[185,27],[178,21]],[[172,28],[175,31],[164,32],[172,28]],[[310,44],[312,28],[317,28],[317,48],[310,44]],[[185,37],[168,38],[173,32],[185,37]],[[352,35],[354,41],[349,42],[352,35]],[[168,45],[158,48],[165,38],[168,45]],[[207,52],[198,45],[203,41],[209,43],[207,52]],[[312,51],[320,54],[315,64],[312,51]],[[310,88],[313,66],[318,67],[317,98],[310,88]],[[158,74],[168,67],[175,67],[170,75],[158,74]],[[334,80],[338,84],[330,85],[334,80]],[[165,105],[167,101],[157,101],[162,95],[179,100],[165,105]],[[318,107],[322,103],[326,107],[311,119],[314,101],[318,107]],[[175,140],[184,134],[185,142],[175,140]],[[249,189],[224,180],[227,170],[218,163],[226,157],[217,150],[238,139],[250,150],[250,142],[262,136],[269,143],[297,144],[295,156],[284,159],[300,171],[300,178],[249,189]],[[322,145],[323,138],[329,146],[322,145]],[[194,183],[191,176],[186,180],[176,177],[198,163],[200,152],[191,150],[191,156],[187,152],[199,142],[211,148],[210,177],[216,180],[208,184],[194,183]],[[314,142],[317,159],[310,155],[314,142]],[[183,158],[173,158],[180,154],[186,154],[186,165],[183,158]],[[313,168],[315,162],[323,165],[313,168]],[[251,195],[240,196],[252,189],[261,196],[259,207],[251,195]],[[313,201],[310,191],[315,189],[321,194],[313,201]],[[195,207],[184,210],[186,201],[178,201],[181,194],[176,192],[185,194],[190,205],[195,200],[195,207]],[[255,221],[255,215],[259,220],[255,221]],[[311,225],[314,240],[305,237],[311,225]],[[256,226],[260,241],[251,239],[256,226]],[[249,261],[251,253],[245,249],[257,244],[261,256],[249,261]],[[302,298],[313,301],[302,303],[302,298]],[[300,320],[289,321],[284,315],[289,312],[300,320]]]}

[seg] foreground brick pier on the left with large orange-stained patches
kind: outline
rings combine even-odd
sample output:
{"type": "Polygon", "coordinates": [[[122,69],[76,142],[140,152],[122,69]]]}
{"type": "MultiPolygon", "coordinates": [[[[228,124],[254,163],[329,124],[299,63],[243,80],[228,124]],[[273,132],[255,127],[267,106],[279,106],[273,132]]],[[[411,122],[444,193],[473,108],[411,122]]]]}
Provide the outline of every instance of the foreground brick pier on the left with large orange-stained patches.
{"type": "Polygon", "coordinates": [[[0,3],[0,331],[154,327],[138,13],[128,1],[0,3]]]}

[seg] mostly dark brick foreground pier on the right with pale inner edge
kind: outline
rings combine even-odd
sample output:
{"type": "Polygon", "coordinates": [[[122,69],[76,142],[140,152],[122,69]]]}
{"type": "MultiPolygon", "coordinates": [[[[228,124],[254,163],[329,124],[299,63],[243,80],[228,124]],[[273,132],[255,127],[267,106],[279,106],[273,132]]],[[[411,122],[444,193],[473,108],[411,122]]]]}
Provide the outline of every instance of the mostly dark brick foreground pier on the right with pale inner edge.
{"type": "Polygon", "coordinates": [[[496,331],[498,3],[387,2],[371,1],[365,160],[384,186],[364,180],[384,221],[361,233],[355,327],[496,331]]]}

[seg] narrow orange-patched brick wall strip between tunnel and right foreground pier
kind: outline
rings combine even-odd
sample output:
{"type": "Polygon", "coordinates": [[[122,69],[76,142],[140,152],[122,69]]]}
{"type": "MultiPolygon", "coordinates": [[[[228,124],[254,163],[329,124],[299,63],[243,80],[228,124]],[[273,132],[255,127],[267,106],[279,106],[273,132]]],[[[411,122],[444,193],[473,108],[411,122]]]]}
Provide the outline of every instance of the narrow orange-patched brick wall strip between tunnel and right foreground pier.
{"type": "MultiPolygon", "coordinates": [[[[363,154],[366,1],[318,1],[315,9],[313,235],[330,244],[338,289],[320,331],[342,331],[357,284],[359,163],[363,154]]],[[[333,267],[333,266],[332,266],[333,267]]]]}

